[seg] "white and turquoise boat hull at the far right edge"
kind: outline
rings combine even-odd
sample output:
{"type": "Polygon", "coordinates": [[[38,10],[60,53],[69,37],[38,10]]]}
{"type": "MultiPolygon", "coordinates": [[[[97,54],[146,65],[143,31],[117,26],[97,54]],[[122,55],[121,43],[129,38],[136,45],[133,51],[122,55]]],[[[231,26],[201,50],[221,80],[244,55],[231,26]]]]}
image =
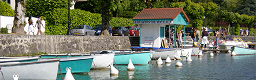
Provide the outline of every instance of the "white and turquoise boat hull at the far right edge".
{"type": "Polygon", "coordinates": [[[236,55],[255,55],[256,49],[253,48],[243,48],[243,47],[231,47],[232,51],[235,51],[236,55]]]}

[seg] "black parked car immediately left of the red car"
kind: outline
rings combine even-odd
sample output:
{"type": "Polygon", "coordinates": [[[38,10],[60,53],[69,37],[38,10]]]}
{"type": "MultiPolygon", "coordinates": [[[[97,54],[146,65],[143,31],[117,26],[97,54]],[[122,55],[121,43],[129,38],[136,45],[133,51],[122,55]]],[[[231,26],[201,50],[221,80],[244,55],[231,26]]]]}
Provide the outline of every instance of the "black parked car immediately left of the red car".
{"type": "Polygon", "coordinates": [[[128,29],[124,26],[115,26],[112,28],[113,36],[130,36],[128,29]]]}

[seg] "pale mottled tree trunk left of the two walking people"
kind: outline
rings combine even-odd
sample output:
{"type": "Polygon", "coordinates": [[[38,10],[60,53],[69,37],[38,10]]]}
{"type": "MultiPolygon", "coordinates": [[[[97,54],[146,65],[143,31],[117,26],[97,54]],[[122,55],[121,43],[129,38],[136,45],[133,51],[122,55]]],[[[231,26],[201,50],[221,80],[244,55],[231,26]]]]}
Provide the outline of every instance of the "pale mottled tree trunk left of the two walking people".
{"type": "Polygon", "coordinates": [[[25,2],[21,0],[15,0],[15,11],[14,11],[14,21],[13,21],[13,33],[24,34],[25,22],[25,2]]]}

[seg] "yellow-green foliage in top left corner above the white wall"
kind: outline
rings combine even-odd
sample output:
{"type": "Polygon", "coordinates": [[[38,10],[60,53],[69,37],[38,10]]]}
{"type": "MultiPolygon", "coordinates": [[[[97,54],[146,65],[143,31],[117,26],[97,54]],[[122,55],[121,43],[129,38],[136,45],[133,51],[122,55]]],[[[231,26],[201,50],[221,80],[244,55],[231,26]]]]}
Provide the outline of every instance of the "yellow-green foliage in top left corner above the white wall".
{"type": "Polygon", "coordinates": [[[14,16],[14,10],[7,2],[0,1],[0,16],[14,16]]]}

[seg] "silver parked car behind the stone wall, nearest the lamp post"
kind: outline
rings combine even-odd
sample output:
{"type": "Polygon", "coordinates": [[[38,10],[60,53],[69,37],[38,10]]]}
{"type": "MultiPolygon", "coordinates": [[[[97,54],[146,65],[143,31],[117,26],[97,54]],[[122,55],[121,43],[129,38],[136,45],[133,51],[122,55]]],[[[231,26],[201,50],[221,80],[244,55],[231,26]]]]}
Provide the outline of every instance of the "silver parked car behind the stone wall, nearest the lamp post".
{"type": "Polygon", "coordinates": [[[75,25],[71,30],[71,35],[94,36],[96,32],[89,25],[75,25]]]}

